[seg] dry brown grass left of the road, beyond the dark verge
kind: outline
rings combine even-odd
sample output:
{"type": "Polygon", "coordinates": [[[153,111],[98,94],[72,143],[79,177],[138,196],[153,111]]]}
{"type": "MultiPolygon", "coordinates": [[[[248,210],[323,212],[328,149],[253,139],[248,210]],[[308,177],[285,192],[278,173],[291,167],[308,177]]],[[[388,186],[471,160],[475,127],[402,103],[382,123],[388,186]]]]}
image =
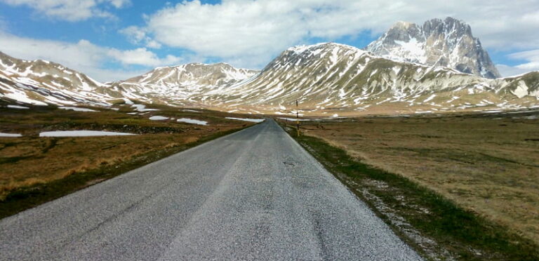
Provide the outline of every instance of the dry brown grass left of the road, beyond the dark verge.
{"type": "MultiPolygon", "coordinates": [[[[122,107],[122,110],[124,107],[122,107]]],[[[131,107],[126,107],[131,109],[131,107]]],[[[72,112],[60,109],[0,111],[0,131],[24,133],[22,138],[0,138],[0,201],[20,187],[65,178],[74,173],[114,166],[148,152],[180,147],[202,137],[251,125],[226,120],[222,112],[188,114],[159,107],[158,115],[209,121],[208,126],[173,120],[149,121],[151,114],[72,112]],[[93,129],[138,133],[130,136],[39,138],[40,131],[93,129]]],[[[129,111],[127,111],[129,112],[129,111]]]]}

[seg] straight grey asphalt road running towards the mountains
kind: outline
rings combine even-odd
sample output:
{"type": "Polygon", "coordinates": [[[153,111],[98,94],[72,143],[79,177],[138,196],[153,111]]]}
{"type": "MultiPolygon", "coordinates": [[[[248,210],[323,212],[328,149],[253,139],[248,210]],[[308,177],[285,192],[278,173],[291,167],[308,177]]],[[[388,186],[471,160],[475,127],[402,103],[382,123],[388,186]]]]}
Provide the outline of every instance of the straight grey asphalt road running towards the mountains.
{"type": "Polygon", "coordinates": [[[0,260],[420,260],[274,121],[0,220],[0,260]]]}

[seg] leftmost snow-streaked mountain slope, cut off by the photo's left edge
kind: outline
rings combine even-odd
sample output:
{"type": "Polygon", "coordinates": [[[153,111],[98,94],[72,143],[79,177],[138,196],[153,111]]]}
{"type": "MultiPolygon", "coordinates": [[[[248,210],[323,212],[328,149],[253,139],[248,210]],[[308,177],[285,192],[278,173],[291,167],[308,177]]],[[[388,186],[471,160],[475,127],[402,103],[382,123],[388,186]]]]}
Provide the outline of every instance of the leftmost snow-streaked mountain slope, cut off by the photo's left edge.
{"type": "Polygon", "coordinates": [[[107,105],[121,95],[72,69],[45,60],[19,60],[0,52],[0,98],[34,105],[107,105]]]}

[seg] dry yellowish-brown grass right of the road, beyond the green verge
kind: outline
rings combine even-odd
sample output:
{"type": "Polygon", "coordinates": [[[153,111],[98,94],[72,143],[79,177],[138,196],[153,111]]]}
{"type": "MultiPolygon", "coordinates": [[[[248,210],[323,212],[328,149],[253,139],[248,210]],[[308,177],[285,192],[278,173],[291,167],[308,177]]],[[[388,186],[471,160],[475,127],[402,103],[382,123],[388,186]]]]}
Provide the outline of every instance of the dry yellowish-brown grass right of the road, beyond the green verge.
{"type": "Polygon", "coordinates": [[[371,117],[302,124],[307,135],[430,187],[539,243],[539,119],[514,116],[371,117]]]}

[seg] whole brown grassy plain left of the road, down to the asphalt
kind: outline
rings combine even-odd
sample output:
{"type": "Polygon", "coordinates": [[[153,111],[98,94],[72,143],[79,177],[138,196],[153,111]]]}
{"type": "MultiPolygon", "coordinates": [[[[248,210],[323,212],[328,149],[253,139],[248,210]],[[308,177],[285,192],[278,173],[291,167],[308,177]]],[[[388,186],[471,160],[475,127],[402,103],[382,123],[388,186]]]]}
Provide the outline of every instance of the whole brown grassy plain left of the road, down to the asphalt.
{"type": "Polygon", "coordinates": [[[21,200],[28,201],[32,194],[36,199],[31,199],[29,206],[253,124],[225,119],[226,116],[245,116],[200,109],[148,106],[159,111],[138,112],[130,105],[116,107],[118,111],[91,108],[98,112],[75,112],[54,107],[0,108],[0,133],[23,135],[20,138],[0,137],[0,217],[13,214],[14,207],[18,210],[25,208],[27,204],[21,200]],[[150,116],[157,115],[169,119],[149,120],[150,116]],[[208,125],[175,120],[179,118],[207,121],[208,125]],[[43,131],[73,130],[117,131],[137,135],[39,137],[43,131]],[[69,184],[62,185],[67,180],[70,180],[69,184]],[[41,193],[55,186],[58,193],[41,193]],[[34,193],[36,191],[39,193],[34,193]],[[51,193],[54,195],[48,195],[51,193]]]}

